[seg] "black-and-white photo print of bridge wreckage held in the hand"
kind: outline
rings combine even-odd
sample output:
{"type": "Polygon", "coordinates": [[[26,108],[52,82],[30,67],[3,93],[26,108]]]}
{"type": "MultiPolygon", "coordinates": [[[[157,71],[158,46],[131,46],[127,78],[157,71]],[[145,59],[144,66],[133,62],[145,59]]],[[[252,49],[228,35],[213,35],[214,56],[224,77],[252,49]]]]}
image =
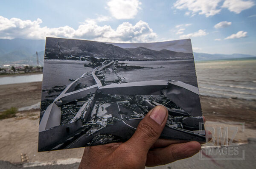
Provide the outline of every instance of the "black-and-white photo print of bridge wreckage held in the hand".
{"type": "Polygon", "coordinates": [[[162,105],[164,139],[205,141],[190,39],[110,43],[47,37],[38,151],[127,141],[162,105]]]}

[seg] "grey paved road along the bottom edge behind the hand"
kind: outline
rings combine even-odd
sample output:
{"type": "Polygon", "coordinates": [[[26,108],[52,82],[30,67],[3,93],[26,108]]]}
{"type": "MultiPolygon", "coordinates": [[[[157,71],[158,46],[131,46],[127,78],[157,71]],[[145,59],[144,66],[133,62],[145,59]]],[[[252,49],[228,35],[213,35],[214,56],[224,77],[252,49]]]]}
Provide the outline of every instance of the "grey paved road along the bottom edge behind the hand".
{"type": "MultiPolygon", "coordinates": [[[[146,169],[255,169],[256,166],[256,139],[249,144],[240,145],[239,149],[245,150],[245,160],[199,160],[199,154],[192,158],[175,161],[164,166],[150,167],[146,169]]],[[[46,165],[26,167],[26,169],[77,169],[79,163],[69,165],[46,165]]],[[[21,169],[21,164],[11,164],[0,161],[0,169],[21,169]]]]}

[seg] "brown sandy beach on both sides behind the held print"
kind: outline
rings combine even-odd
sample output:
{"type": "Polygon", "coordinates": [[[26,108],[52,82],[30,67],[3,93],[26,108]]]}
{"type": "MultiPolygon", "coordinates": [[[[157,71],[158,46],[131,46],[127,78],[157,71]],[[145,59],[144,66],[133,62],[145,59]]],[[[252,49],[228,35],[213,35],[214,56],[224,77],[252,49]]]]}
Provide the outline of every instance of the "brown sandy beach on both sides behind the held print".
{"type": "MultiPolygon", "coordinates": [[[[30,106],[39,101],[41,82],[0,85],[0,110],[30,106]]],[[[201,96],[201,104],[208,123],[245,122],[245,132],[238,133],[235,141],[246,142],[247,138],[256,137],[255,101],[201,96]]],[[[21,153],[26,153],[29,161],[81,158],[84,148],[38,153],[38,124],[39,109],[22,111],[15,118],[0,120],[0,160],[20,163],[21,153]]]]}

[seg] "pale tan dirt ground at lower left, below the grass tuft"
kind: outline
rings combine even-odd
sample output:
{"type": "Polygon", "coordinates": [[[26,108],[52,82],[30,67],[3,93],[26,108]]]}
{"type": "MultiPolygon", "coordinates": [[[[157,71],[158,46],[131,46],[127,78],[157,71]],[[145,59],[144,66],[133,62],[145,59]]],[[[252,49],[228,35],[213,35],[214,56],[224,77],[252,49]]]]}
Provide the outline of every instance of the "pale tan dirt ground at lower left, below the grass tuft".
{"type": "Polygon", "coordinates": [[[84,148],[38,152],[39,110],[16,115],[0,121],[0,160],[20,163],[21,153],[26,153],[30,162],[82,157],[84,148]]]}

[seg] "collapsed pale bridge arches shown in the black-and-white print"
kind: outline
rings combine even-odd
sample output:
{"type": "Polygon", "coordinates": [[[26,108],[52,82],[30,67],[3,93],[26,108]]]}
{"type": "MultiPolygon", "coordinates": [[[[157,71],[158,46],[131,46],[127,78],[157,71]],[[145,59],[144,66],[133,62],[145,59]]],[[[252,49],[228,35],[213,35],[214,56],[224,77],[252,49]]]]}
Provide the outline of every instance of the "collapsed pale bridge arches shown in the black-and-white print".
{"type": "MultiPolygon", "coordinates": [[[[85,96],[90,95],[89,99],[82,103],[81,108],[76,113],[74,118],[67,124],[69,128],[73,127],[73,130],[81,127],[81,124],[79,124],[78,120],[81,118],[83,118],[85,121],[87,120],[88,115],[90,115],[90,112],[92,111],[93,105],[95,103],[96,93],[109,95],[164,95],[166,98],[170,99],[182,109],[168,109],[169,114],[175,116],[201,116],[201,105],[198,87],[183,82],[175,82],[173,80],[151,80],[102,86],[102,82],[96,75],[104,68],[107,68],[112,64],[115,65],[115,62],[104,62],[101,66],[98,66],[92,71],[84,73],[80,78],[70,83],[70,85],[68,85],[62,91],[62,93],[45,110],[45,113],[39,124],[39,133],[41,133],[41,137],[44,137],[43,133],[44,135],[49,135],[45,134],[49,131],[49,129],[60,126],[61,105],[82,99],[85,96]],[[90,82],[90,86],[88,86],[88,82],[90,82]],[[77,87],[78,84],[80,87],[77,87]]],[[[144,102],[145,104],[150,104],[147,101],[144,102]]],[[[158,104],[154,103],[154,105],[158,104]]],[[[152,105],[150,104],[149,106],[152,105]]],[[[182,132],[187,131],[183,130],[182,132]]],[[[192,132],[192,134],[194,133],[192,132]]]]}

